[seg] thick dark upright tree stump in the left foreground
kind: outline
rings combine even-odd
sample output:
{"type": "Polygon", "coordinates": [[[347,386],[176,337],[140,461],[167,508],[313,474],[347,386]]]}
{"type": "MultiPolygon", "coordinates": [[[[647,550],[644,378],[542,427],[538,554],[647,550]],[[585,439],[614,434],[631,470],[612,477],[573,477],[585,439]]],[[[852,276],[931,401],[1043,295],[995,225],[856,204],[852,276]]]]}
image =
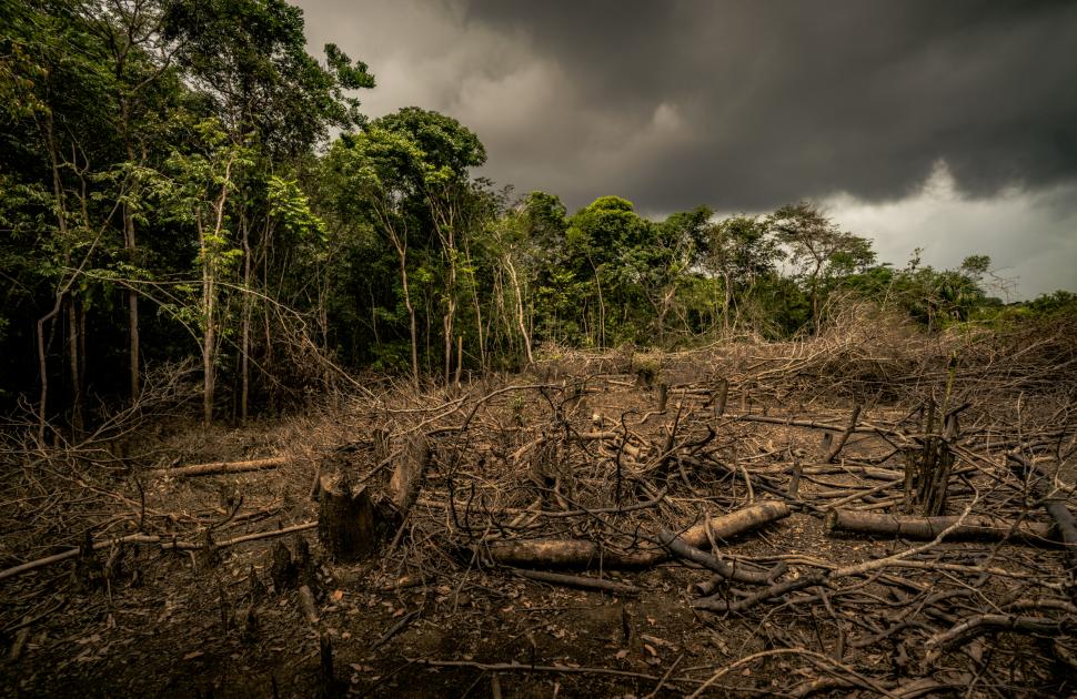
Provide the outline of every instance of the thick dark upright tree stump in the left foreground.
{"type": "Polygon", "coordinates": [[[318,511],[318,540],[333,560],[370,555],[376,545],[374,505],[365,486],[353,490],[346,480],[323,476],[318,511]]]}

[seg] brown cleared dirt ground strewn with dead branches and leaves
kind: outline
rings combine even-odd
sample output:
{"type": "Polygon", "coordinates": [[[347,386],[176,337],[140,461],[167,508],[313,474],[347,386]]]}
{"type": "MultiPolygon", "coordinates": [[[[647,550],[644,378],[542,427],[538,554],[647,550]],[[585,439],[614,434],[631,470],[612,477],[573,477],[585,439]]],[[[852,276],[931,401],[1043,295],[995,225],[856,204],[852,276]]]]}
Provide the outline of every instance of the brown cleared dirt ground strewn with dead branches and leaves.
{"type": "MultiPolygon", "coordinates": [[[[423,394],[382,386],[248,427],[159,424],[119,455],[26,449],[6,466],[3,566],[70,550],[88,531],[100,547],[92,558],[0,579],[0,692],[1074,692],[1077,597],[1064,548],[1014,537],[910,540],[829,531],[824,523],[834,503],[905,511],[907,454],[930,432],[924,406],[934,396],[940,405],[968,403],[953,437],[947,513],[1051,525],[1035,484],[1014,476],[1006,454],[1018,449],[1053,467],[1056,486],[1067,475],[1073,482],[1071,373],[1047,379],[1054,365],[1026,356],[1005,374],[1003,393],[984,384],[980,358],[966,359],[967,374],[947,368],[948,347],[879,352],[862,338],[555,356],[526,375],[423,394]],[[863,408],[855,430],[827,460],[856,404],[863,408]],[[378,429],[389,446],[379,444],[378,429]],[[314,528],[230,545],[315,523],[319,469],[383,492],[420,437],[432,456],[419,500],[374,556],[331,561],[314,528]],[[249,473],[152,470],[272,456],[284,456],[283,464],[249,473]],[[741,611],[698,608],[705,596],[695,586],[715,576],[675,556],[636,569],[598,560],[561,570],[638,588],[617,595],[525,578],[489,553],[497,541],[535,538],[631,551],[661,529],[683,531],[768,500],[786,503],[792,514],[713,553],[776,577],[763,586],[718,580],[712,599],[739,604],[768,585],[837,577],[772,590],[741,611]],[[175,545],[204,541],[207,530],[212,548],[175,545]],[[137,534],[157,538],[108,545],[137,534]],[[294,586],[275,589],[270,575],[273,547],[294,553],[301,537],[316,560],[308,579],[316,619],[304,614],[294,586]],[[895,560],[842,573],[886,557],[895,560]]],[[[1008,366],[1005,351],[990,352],[994,368],[1008,366]]]]}

